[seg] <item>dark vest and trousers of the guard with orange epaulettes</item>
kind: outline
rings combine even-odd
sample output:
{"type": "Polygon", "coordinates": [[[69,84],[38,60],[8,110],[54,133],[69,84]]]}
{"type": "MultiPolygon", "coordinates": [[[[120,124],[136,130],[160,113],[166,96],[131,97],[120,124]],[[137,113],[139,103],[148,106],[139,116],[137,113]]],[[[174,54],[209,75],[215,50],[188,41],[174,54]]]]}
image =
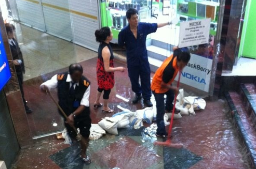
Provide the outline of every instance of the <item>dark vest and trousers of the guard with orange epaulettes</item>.
{"type": "MultiPolygon", "coordinates": [[[[83,99],[85,91],[90,85],[90,82],[85,76],[79,82],[79,85],[75,87],[73,93],[70,92],[70,82],[66,82],[69,73],[58,74],[58,97],[59,104],[67,116],[72,114],[83,99]]],[[[60,112],[61,114],[61,112],[60,112]]],[[[61,114],[62,115],[62,114],[61,114]]],[[[76,132],[71,126],[64,123],[69,135],[75,138],[76,132]]],[[[85,106],[85,110],[74,118],[74,125],[76,128],[80,129],[80,134],[85,138],[90,135],[91,118],[90,118],[90,108],[85,106]]]]}

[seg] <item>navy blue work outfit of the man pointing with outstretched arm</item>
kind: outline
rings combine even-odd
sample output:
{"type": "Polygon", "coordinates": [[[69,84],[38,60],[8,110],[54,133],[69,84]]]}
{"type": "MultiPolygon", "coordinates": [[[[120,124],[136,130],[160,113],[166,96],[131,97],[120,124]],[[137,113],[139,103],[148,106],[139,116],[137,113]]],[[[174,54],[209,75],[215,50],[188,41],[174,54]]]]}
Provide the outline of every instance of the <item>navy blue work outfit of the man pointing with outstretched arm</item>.
{"type": "Polygon", "coordinates": [[[150,100],[150,64],[147,58],[146,36],[156,32],[157,23],[139,23],[137,29],[137,39],[130,30],[130,26],[125,26],[118,35],[118,44],[126,47],[127,67],[131,81],[132,91],[137,95],[142,94],[143,99],[150,100]],[[141,85],[139,84],[139,77],[141,85]]]}

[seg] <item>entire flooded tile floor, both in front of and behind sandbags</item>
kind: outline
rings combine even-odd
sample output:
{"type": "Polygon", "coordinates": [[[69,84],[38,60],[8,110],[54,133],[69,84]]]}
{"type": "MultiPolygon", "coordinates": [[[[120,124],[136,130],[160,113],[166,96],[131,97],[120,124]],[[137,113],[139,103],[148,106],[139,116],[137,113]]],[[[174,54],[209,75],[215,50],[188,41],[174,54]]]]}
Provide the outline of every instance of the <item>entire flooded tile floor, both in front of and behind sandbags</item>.
{"type": "MultiPolygon", "coordinates": [[[[91,81],[91,118],[92,123],[98,123],[105,116],[102,111],[92,108],[97,90],[96,65],[97,58],[82,62],[84,74],[91,81]]],[[[115,66],[125,66],[115,62],[115,66]]],[[[62,72],[65,69],[56,71],[62,72]]],[[[50,78],[46,74],[44,78],[50,78]]],[[[153,75],[153,74],[152,74],[153,75]]],[[[43,78],[42,78],[43,79],[43,78]]],[[[135,111],[142,109],[143,104],[131,104],[116,97],[122,96],[130,100],[133,97],[127,72],[115,73],[116,85],[110,97],[110,107],[115,112],[121,112],[120,107],[135,111]],[[118,108],[119,107],[119,108],[118,108]]],[[[43,81],[43,80],[41,80],[43,81]]],[[[25,85],[25,95],[29,98],[30,107],[34,110],[28,115],[31,129],[34,134],[44,134],[56,131],[57,127],[63,129],[55,104],[49,96],[40,93],[38,86],[41,81],[33,85],[25,85]]],[[[145,125],[147,127],[148,125],[145,125]]],[[[168,128],[168,126],[167,126],[168,128]]],[[[35,140],[32,147],[22,149],[15,168],[248,168],[247,161],[243,159],[242,147],[238,141],[237,131],[232,126],[232,119],[228,115],[228,108],[224,101],[207,102],[206,109],[196,112],[195,116],[183,116],[174,120],[173,143],[182,143],[184,148],[174,149],[154,146],[156,137],[146,139],[142,136],[144,127],[119,130],[119,135],[107,134],[101,139],[91,141],[88,153],[93,162],[84,165],[79,159],[79,145],[69,146],[56,136],[48,136],[35,140]]],[[[159,139],[158,139],[159,140],[159,139]]],[[[162,140],[159,140],[162,141],[162,140]]]]}

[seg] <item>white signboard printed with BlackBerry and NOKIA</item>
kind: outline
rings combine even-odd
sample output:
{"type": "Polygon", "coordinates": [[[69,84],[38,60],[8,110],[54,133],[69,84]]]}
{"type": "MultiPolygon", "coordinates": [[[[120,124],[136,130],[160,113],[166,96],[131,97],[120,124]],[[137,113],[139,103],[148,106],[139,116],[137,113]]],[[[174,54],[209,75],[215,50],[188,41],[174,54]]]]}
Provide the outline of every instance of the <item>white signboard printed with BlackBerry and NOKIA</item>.
{"type": "MultiPolygon", "coordinates": [[[[191,54],[190,62],[181,72],[180,82],[208,92],[211,78],[212,59],[191,54]]],[[[178,81],[178,75],[176,76],[178,81]]]]}

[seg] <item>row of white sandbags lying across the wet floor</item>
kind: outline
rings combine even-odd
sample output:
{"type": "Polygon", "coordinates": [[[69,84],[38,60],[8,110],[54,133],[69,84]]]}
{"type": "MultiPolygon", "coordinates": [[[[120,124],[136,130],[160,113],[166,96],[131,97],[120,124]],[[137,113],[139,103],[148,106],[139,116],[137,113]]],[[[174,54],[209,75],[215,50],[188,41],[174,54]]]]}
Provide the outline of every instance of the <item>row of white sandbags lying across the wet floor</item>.
{"type": "MultiPolygon", "coordinates": [[[[156,101],[154,96],[151,98],[153,107],[146,107],[136,112],[126,110],[114,114],[112,117],[105,117],[99,122],[99,125],[110,134],[118,134],[117,129],[133,127],[139,129],[143,126],[143,121],[147,124],[152,124],[156,120],[156,101]]],[[[180,94],[177,97],[176,108],[181,110],[180,113],[174,114],[173,119],[182,118],[182,115],[195,115],[195,110],[205,109],[206,102],[199,97],[184,97],[184,90],[180,89],[180,94]]],[[[168,119],[172,113],[165,113],[165,125],[169,125],[168,119]]]]}

